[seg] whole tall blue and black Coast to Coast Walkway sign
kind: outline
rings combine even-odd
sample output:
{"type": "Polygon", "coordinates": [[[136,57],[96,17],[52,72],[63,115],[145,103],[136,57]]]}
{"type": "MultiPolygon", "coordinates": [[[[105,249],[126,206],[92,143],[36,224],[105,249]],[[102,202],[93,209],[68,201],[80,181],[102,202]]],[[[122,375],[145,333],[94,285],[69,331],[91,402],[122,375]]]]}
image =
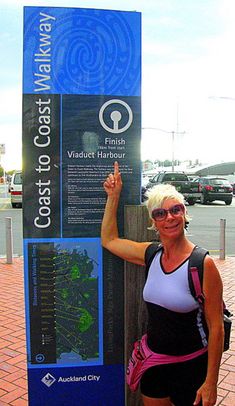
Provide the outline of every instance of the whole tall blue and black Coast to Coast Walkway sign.
{"type": "Polygon", "coordinates": [[[124,405],[123,262],[103,181],[140,203],[140,13],[24,9],[23,223],[29,404],[124,405]]]}

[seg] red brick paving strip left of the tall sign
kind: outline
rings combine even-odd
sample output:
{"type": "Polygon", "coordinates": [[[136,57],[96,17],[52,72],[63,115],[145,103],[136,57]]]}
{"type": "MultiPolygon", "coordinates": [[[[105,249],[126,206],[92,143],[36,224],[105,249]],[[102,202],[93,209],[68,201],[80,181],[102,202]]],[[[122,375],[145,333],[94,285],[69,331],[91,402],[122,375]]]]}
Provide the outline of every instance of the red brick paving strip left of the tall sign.
{"type": "Polygon", "coordinates": [[[0,259],[0,406],[28,405],[23,259],[0,259]]]}

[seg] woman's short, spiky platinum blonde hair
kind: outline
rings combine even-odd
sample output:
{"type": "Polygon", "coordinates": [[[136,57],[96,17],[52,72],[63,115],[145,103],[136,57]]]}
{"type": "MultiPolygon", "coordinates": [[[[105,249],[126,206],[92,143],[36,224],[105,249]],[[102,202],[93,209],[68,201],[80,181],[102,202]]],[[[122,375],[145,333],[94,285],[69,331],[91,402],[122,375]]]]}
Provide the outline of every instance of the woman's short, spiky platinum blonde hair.
{"type": "MultiPolygon", "coordinates": [[[[176,190],[175,186],[170,185],[170,184],[156,185],[153,188],[147,190],[145,195],[147,197],[147,200],[145,201],[145,205],[148,209],[150,219],[152,219],[152,211],[154,209],[161,208],[163,206],[163,203],[165,202],[165,200],[176,199],[179,201],[179,203],[182,203],[182,204],[184,204],[184,202],[185,202],[184,196],[182,195],[182,193],[178,192],[178,190],[176,190]]],[[[186,210],[185,210],[184,218],[185,218],[185,224],[187,226],[187,224],[189,223],[190,217],[187,214],[186,210]]],[[[152,227],[150,227],[150,229],[153,229],[153,230],[156,229],[154,224],[152,227]]]]}

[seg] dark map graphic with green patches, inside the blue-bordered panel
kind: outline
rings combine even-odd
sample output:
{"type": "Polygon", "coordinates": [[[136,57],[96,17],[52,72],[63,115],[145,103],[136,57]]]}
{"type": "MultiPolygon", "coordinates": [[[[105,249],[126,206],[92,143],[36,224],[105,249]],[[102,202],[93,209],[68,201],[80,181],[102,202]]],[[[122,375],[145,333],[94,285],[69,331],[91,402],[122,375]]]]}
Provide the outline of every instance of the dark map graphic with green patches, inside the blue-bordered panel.
{"type": "MultiPolygon", "coordinates": [[[[57,363],[99,359],[98,262],[84,247],[55,246],[57,363]]],[[[93,252],[95,254],[95,252],[93,252]]]]}

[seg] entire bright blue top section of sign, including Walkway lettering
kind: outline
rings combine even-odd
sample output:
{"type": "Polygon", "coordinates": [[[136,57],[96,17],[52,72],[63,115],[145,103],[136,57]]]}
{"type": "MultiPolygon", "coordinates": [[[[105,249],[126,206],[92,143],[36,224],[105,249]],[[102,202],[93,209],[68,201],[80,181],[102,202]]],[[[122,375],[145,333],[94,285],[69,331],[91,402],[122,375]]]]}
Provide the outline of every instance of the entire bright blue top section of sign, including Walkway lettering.
{"type": "Polygon", "coordinates": [[[140,96],[140,14],[26,7],[24,93],[140,96]]]}

